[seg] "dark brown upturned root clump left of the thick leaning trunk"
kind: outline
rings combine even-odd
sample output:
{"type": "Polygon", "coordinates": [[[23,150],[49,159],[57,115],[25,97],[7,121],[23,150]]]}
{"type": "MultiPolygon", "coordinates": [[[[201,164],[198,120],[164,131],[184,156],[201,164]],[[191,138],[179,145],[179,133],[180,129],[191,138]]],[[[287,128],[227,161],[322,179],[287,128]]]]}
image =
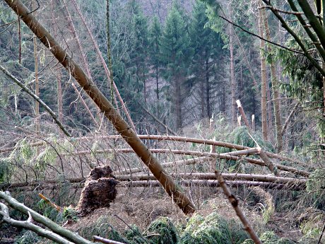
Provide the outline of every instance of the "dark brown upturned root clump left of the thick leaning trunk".
{"type": "Polygon", "coordinates": [[[116,185],[117,180],[112,175],[110,166],[104,165],[91,170],[78,202],[78,214],[85,216],[95,209],[110,207],[117,195],[116,185]]]}

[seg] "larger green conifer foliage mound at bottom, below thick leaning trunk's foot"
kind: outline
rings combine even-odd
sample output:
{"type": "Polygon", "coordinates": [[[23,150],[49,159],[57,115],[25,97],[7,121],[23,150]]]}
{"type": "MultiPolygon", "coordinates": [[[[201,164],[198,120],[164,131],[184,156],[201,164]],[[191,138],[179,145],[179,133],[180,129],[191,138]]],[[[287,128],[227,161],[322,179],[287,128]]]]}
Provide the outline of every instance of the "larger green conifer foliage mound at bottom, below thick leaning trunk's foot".
{"type": "Polygon", "coordinates": [[[208,243],[208,244],[230,244],[231,236],[227,221],[218,214],[208,215],[201,223],[189,221],[189,226],[185,228],[180,237],[180,244],[208,243]],[[189,231],[190,230],[190,231],[189,231]]]}

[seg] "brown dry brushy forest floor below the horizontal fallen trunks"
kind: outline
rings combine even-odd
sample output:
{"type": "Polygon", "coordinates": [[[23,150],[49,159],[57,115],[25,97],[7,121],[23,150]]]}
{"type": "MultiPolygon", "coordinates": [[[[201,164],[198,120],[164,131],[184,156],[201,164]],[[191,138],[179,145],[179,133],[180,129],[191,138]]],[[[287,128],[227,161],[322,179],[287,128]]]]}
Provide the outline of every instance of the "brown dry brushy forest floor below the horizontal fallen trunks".
{"type": "MultiPolygon", "coordinates": [[[[302,238],[302,233],[297,225],[295,214],[274,212],[268,218],[267,223],[262,214],[261,206],[265,206],[261,202],[252,202],[252,197],[246,195],[246,199],[242,199],[240,195],[244,195],[242,190],[237,190],[237,197],[240,198],[241,207],[245,216],[252,223],[257,233],[264,231],[274,231],[277,236],[290,238],[290,240],[298,241],[302,238]]],[[[196,204],[197,211],[203,217],[216,212],[227,221],[234,220],[240,223],[234,209],[228,199],[220,192],[219,189],[200,187],[191,195],[192,200],[196,204]]],[[[140,231],[144,231],[152,221],[160,216],[168,217],[175,223],[175,226],[185,226],[190,216],[186,216],[182,211],[171,202],[162,189],[159,188],[135,188],[127,190],[119,189],[117,198],[111,204],[110,208],[96,209],[93,214],[79,219],[77,222],[69,223],[67,228],[78,231],[82,236],[92,235],[94,228],[100,228],[103,221],[98,224],[100,219],[107,221],[110,225],[120,233],[130,230],[133,226],[137,226],[140,231]]],[[[98,234],[107,231],[97,231],[98,234]]]]}

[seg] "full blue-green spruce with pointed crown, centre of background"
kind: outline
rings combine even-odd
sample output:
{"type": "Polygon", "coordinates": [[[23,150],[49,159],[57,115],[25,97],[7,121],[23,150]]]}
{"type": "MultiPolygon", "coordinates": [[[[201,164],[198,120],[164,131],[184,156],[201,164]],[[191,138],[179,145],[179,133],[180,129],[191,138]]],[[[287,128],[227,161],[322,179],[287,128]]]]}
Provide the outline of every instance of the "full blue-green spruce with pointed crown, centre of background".
{"type": "Polygon", "coordinates": [[[184,88],[186,88],[187,67],[191,54],[189,35],[182,18],[184,13],[181,11],[176,4],[170,9],[161,42],[161,61],[164,66],[162,76],[167,81],[166,95],[172,103],[177,129],[182,128],[182,104],[185,96],[188,95],[184,88]]]}

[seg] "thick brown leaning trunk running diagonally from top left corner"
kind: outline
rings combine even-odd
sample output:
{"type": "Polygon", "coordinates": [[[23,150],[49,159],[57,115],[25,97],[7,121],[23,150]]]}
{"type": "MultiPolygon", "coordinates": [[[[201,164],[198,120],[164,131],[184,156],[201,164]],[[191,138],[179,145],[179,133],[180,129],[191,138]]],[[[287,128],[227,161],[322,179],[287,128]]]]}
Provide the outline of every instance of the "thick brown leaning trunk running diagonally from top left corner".
{"type": "Polygon", "coordinates": [[[189,198],[182,193],[182,189],[176,185],[175,181],[162,168],[157,158],[153,156],[150,149],[139,139],[133,129],[123,120],[117,110],[114,109],[112,103],[105,97],[104,94],[95,86],[95,83],[85,74],[81,66],[79,66],[66,51],[54,40],[52,35],[30,14],[30,11],[19,0],[5,0],[8,6],[15,11],[33,33],[40,39],[40,41],[52,52],[54,57],[71,73],[71,75],[78,81],[80,86],[98,105],[104,115],[112,122],[115,129],[123,136],[125,141],[131,146],[134,152],[145,163],[149,170],[153,173],[155,178],[160,182],[166,192],[172,197],[173,201],[177,203],[180,209],[185,214],[190,214],[195,211],[194,204],[189,198]]]}

